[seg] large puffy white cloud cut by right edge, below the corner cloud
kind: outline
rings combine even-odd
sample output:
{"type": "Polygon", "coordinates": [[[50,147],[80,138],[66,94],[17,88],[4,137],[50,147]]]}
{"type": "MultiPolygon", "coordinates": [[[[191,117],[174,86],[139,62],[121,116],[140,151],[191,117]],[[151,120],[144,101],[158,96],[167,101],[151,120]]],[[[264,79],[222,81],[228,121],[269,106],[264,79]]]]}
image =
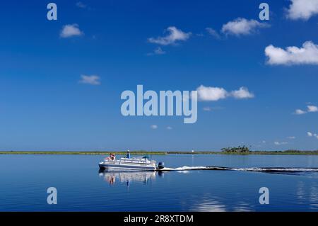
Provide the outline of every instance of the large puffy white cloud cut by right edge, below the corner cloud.
{"type": "Polygon", "coordinates": [[[269,45],[265,48],[265,55],[267,63],[273,65],[318,64],[318,45],[307,41],[300,48],[290,46],[285,50],[269,45]]]}

